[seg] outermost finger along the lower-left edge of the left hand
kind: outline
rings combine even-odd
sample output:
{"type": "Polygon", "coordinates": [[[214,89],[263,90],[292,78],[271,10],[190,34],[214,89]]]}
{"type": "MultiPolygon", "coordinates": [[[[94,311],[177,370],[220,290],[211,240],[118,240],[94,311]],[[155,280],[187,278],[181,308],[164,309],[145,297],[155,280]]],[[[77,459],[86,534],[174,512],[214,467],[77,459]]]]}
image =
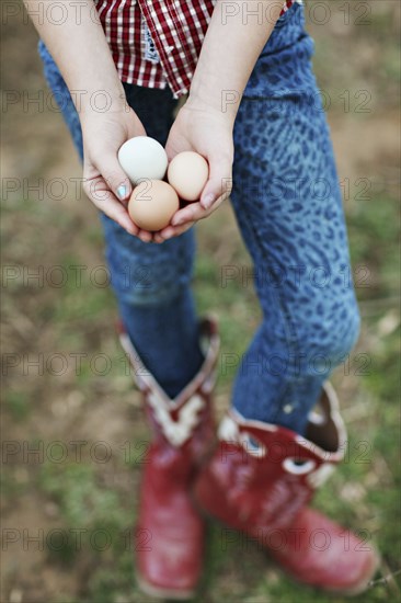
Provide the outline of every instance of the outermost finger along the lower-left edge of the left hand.
{"type": "Polygon", "coordinates": [[[136,236],[138,234],[139,229],[130,219],[128,212],[115,198],[101,177],[92,180],[87,179],[83,183],[83,190],[101,212],[119,224],[130,235],[136,236]]]}

